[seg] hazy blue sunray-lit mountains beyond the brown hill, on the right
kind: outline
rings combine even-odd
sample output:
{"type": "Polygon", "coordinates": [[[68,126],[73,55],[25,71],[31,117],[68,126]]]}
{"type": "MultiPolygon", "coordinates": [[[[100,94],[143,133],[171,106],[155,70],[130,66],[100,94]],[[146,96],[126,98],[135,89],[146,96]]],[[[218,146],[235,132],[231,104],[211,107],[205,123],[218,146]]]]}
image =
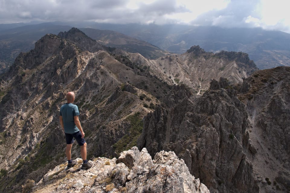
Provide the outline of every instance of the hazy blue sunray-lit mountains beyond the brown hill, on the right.
{"type": "Polygon", "coordinates": [[[205,51],[245,52],[259,69],[290,66],[290,34],[281,31],[153,24],[147,26],[95,24],[92,27],[115,30],[179,54],[193,45],[199,45],[205,51]]]}

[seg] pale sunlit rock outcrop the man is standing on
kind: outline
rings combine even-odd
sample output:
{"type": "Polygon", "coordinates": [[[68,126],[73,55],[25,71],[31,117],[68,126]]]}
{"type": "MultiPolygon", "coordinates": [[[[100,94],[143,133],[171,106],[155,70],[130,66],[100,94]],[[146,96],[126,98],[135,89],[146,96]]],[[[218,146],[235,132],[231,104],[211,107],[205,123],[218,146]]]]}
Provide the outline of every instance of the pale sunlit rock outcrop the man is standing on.
{"type": "Polygon", "coordinates": [[[161,151],[152,160],[145,148],[140,152],[133,147],[122,152],[117,160],[98,157],[91,161],[89,170],[80,169],[82,160],[77,161],[73,168],[62,164],[50,170],[32,192],[209,193],[172,151],[161,151]]]}

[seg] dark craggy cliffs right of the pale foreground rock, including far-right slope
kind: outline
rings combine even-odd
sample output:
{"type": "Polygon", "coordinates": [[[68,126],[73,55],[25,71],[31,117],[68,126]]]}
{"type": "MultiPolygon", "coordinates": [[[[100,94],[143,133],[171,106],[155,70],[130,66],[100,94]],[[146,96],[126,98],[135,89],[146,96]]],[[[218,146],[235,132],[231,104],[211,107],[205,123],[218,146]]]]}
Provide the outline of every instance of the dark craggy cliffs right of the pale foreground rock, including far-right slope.
{"type": "Polygon", "coordinates": [[[289,191],[289,67],[202,96],[177,86],[144,119],[138,147],[174,151],[213,192],[289,191]]]}

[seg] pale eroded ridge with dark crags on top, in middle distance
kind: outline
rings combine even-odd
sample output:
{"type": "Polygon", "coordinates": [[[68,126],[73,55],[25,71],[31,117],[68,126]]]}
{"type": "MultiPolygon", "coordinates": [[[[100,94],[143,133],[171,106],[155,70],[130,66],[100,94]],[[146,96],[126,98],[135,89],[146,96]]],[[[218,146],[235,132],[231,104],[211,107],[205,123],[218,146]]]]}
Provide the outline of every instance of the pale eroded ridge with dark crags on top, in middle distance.
{"type": "Polygon", "coordinates": [[[185,84],[198,94],[203,94],[209,88],[212,79],[224,77],[229,84],[240,83],[258,70],[246,53],[221,51],[214,54],[205,52],[199,46],[192,46],[184,54],[157,60],[147,60],[140,54],[128,56],[135,64],[149,66],[150,72],[168,84],[185,84]]]}

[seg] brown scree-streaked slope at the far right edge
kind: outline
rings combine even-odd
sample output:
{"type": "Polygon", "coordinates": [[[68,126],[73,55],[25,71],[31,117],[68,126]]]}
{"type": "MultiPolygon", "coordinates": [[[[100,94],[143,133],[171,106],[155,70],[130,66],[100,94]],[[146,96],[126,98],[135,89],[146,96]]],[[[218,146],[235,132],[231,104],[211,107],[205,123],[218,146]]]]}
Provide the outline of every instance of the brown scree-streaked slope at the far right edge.
{"type": "Polygon", "coordinates": [[[271,182],[276,190],[290,191],[289,75],[289,67],[257,71],[239,95],[249,112],[249,159],[264,192],[271,192],[271,182]]]}

